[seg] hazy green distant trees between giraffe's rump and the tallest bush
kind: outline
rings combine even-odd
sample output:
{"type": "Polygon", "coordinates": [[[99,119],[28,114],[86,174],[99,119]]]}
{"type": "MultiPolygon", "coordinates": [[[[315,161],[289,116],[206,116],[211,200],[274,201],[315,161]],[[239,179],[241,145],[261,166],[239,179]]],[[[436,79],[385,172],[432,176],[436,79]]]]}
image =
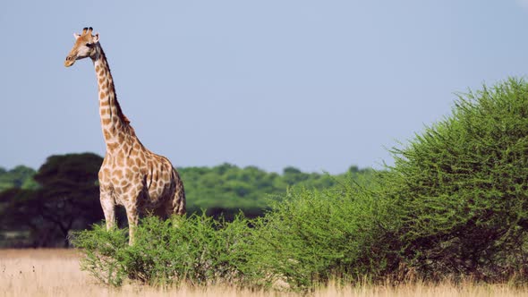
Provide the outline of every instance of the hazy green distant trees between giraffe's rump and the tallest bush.
{"type": "MultiPolygon", "coordinates": [[[[370,180],[371,169],[355,168],[353,173],[347,174],[358,182],[370,180]]],[[[188,212],[206,209],[211,216],[225,216],[227,219],[240,211],[246,216],[262,216],[269,208],[269,199],[284,194],[288,187],[327,189],[346,175],[307,174],[292,166],[286,167],[283,174],[277,174],[256,166],[241,168],[227,163],[214,167],[184,167],[180,171],[185,183],[188,212]]]]}

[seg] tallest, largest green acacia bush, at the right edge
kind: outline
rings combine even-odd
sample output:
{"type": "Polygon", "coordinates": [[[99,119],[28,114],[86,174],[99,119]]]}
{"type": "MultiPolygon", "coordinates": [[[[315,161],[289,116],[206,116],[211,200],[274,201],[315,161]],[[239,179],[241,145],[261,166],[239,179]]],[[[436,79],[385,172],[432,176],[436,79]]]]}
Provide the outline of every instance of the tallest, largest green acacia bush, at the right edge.
{"type": "Polygon", "coordinates": [[[482,279],[526,269],[528,85],[461,95],[453,114],[395,149],[379,195],[398,207],[406,265],[482,279]]]}

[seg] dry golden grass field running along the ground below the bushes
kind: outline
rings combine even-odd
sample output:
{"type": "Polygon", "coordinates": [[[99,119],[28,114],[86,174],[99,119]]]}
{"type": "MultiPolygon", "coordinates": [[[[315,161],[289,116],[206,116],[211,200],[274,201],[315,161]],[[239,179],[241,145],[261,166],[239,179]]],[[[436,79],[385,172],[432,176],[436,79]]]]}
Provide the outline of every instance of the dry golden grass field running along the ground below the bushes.
{"type": "MultiPolygon", "coordinates": [[[[79,269],[75,250],[0,250],[0,296],[268,296],[227,286],[158,289],[126,284],[120,289],[97,284],[79,269]]],[[[288,295],[293,295],[289,293],[288,295]]],[[[401,284],[321,288],[314,296],[527,296],[528,289],[506,284],[401,284]]]]}

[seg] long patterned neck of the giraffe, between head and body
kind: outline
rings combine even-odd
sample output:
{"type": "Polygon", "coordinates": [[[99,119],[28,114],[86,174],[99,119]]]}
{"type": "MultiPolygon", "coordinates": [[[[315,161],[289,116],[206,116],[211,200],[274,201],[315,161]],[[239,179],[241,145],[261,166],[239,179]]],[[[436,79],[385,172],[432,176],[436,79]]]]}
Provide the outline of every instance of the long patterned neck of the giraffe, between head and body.
{"type": "Polygon", "coordinates": [[[128,118],[123,115],[115,95],[114,80],[103,49],[98,45],[98,55],[93,59],[98,79],[99,115],[106,142],[106,151],[112,153],[126,140],[135,138],[128,118]]]}

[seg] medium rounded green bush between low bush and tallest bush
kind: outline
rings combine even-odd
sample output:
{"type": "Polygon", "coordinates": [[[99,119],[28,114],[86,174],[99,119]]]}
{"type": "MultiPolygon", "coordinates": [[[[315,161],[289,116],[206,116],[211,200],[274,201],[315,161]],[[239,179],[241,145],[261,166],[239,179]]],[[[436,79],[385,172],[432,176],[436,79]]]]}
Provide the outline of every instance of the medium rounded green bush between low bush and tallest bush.
{"type": "Polygon", "coordinates": [[[390,212],[379,203],[383,201],[353,183],[288,192],[254,224],[254,257],[248,259],[253,284],[282,281],[305,290],[336,276],[384,276],[398,255],[389,232],[390,212]]]}

